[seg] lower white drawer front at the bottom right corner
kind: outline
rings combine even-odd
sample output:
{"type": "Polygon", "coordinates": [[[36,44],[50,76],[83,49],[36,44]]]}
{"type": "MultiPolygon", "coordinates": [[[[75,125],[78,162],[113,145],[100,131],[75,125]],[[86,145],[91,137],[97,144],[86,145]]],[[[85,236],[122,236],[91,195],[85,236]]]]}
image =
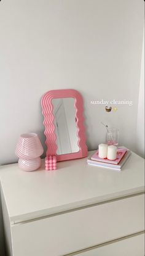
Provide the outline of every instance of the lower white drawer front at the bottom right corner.
{"type": "Polygon", "coordinates": [[[144,234],[88,250],[76,256],[144,256],[144,234]]]}

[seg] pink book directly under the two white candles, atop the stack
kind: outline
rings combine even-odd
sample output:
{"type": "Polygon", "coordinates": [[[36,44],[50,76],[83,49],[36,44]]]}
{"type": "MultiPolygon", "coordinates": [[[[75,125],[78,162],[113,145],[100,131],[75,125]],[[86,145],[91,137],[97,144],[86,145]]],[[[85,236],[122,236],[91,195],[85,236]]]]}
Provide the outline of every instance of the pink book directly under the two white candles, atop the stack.
{"type": "Polygon", "coordinates": [[[125,155],[127,152],[126,148],[119,148],[117,149],[117,157],[116,160],[109,160],[109,159],[102,159],[98,156],[98,150],[95,152],[95,154],[92,155],[91,160],[95,160],[98,162],[103,162],[103,163],[113,163],[114,165],[118,165],[122,157],[125,155]]]}

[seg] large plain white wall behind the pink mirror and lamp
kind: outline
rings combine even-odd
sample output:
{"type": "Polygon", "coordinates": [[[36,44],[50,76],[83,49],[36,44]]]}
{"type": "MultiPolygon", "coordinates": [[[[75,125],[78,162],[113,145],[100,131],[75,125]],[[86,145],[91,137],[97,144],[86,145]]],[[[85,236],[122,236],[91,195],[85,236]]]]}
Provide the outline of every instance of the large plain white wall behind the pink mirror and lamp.
{"type": "Polygon", "coordinates": [[[120,129],[135,150],[143,0],[13,0],[0,2],[0,163],[17,161],[21,133],[44,143],[41,96],[74,88],[84,97],[89,149],[104,140],[100,122],[120,129]],[[93,99],[130,99],[107,113],[93,99]]]}

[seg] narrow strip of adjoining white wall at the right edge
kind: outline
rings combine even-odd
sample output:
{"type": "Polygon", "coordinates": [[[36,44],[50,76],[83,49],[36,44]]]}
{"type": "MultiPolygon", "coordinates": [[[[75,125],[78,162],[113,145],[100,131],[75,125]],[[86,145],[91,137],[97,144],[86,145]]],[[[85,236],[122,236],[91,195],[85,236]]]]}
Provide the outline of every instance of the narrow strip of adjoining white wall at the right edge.
{"type": "Polygon", "coordinates": [[[144,157],[144,38],[143,38],[143,51],[141,58],[141,78],[139,86],[139,99],[138,99],[138,121],[137,121],[137,152],[141,157],[144,157]]]}

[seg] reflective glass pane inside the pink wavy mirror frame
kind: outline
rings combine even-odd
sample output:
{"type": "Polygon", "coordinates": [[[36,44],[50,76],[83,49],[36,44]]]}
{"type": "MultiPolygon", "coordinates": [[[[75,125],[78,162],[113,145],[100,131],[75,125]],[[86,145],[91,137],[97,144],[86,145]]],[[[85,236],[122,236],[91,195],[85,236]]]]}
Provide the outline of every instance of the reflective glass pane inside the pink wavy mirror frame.
{"type": "Polygon", "coordinates": [[[57,155],[79,151],[74,98],[53,99],[57,155]]]}

